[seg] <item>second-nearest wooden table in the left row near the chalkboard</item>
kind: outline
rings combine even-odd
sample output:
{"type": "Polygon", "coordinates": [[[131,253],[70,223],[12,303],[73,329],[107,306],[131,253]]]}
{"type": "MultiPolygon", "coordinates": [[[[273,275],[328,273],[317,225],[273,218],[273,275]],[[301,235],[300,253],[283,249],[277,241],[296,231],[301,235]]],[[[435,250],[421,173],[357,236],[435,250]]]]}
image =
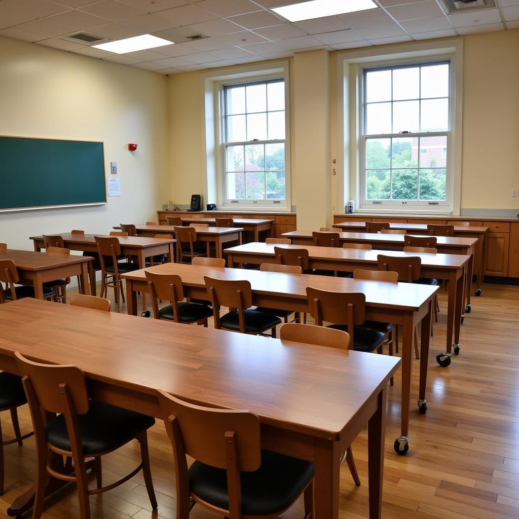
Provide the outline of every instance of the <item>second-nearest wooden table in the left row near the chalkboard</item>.
{"type": "MultiPolygon", "coordinates": [[[[97,244],[95,243],[95,236],[105,235],[59,233],[50,236],[61,236],[65,247],[71,251],[97,252],[98,249],[97,244]]],[[[175,243],[175,240],[143,238],[139,236],[115,236],[115,238],[119,240],[122,254],[137,256],[139,258],[140,268],[146,266],[146,258],[160,254],[167,254],[169,261],[171,262],[174,260],[173,244],[175,243]]],[[[42,236],[31,236],[29,239],[33,240],[35,251],[45,249],[45,243],[42,236]]],[[[95,272],[92,263],[90,263],[89,266],[89,277],[91,293],[92,295],[96,295],[95,272]]]]}

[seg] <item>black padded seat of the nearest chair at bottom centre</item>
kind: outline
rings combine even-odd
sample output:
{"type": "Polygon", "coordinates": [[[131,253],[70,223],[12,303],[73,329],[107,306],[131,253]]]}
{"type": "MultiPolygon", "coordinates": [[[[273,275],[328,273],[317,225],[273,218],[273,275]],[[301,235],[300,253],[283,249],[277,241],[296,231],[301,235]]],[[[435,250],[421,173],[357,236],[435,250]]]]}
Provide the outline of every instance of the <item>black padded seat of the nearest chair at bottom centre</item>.
{"type": "MultiPolygon", "coordinates": [[[[275,515],[297,499],[310,483],[314,465],[291,456],[262,450],[254,472],[241,472],[241,513],[275,515]]],[[[228,510],[227,472],[195,461],[189,468],[189,490],[200,499],[228,510]]]]}

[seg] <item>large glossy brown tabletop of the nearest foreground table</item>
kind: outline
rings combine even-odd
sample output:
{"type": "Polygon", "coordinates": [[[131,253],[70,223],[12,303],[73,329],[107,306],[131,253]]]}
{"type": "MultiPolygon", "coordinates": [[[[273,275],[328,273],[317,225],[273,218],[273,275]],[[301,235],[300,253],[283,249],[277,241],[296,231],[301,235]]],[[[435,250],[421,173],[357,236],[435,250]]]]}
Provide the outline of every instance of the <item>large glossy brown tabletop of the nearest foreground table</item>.
{"type": "Polygon", "coordinates": [[[75,364],[91,380],[249,409],[263,424],[326,439],[339,438],[401,362],[29,298],[0,305],[0,330],[0,359],[19,351],[75,364]]]}

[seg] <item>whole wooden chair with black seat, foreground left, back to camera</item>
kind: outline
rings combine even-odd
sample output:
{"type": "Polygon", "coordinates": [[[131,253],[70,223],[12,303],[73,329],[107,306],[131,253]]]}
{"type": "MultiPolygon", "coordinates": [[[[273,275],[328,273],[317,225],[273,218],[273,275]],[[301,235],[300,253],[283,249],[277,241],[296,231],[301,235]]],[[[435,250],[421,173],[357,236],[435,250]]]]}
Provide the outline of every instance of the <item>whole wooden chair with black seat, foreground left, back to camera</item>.
{"type": "Polygon", "coordinates": [[[77,366],[39,364],[22,357],[18,352],[15,357],[18,371],[23,376],[36,440],[33,518],[42,516],[49,475],[76,483],[81,518],[89,519],[89,496],[111,490],[142,470],[149,501],[152,509],[156,509],[146,433],[155,424],[155,419],[89,400],[85,375],[77,366]],[[58,416],[47,421],[45,412],[58,416]],[[127,476],[103,487],[101,457],[135,438],[140,443],[142,462],[127,476]],[[69,466],[71,475],[59,471],[63,467],[63,456],[74,461],[73,472],[72,466],[69,466]],[[85,458],[94,458],[97,482],[94,490],[88,489],[85,458]]]}

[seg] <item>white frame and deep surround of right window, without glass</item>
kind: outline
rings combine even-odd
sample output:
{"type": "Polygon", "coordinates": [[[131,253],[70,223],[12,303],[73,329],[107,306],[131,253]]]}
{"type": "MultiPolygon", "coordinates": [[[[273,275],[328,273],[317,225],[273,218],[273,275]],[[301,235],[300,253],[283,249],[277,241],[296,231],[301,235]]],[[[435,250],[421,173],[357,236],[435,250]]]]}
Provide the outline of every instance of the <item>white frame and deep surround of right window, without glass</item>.
{"type": "MultiPolygon", "coordinates": [[[[462,143],[462,73],[463,42],[461,39],[443,42],[415,42],[384,49],[363,49],[341,52],[338,60],[338,119],[339,145],[337,154],[339,173],[337,204],[345,207],[354,200],[358,213],[393,214],[452,214],[460,213],[461,143],[462,143]],[[425,203],[365,203],[363,154],[363,77],[367,68],[413,65],[427,62],[450,62],[449,135],[447,147],[446,201],[438,205],[425,203]],[[340,174],[343,173],[343,174],[340,174]]],[[[439,132],[445,134],[446,132],[439,132]]],[[[435,133],[428,133],[433,136],[435,133]]],[[[387,137],[388,135],[384,135],[387,137]]],[[[402,135],[403,136],[403,135],[402,135]]],[[[416,134],[405,134],[416,136],[416,134]]]]}

